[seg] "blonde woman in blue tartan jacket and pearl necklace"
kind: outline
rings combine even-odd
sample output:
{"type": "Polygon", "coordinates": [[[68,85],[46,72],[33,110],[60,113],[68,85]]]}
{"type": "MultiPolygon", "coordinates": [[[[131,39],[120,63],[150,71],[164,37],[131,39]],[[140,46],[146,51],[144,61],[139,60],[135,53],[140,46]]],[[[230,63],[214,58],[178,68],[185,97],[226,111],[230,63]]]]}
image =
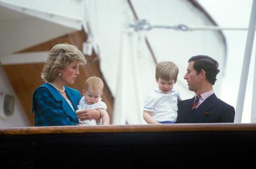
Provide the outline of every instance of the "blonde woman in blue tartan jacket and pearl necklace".
{"type": "Polygon", "coordinates": [[[77,125],[78,118],[100,120],[97,110],[75,114],[81,94],[65,84],[74,83],[80,64],[85,65],[86,60],[76,46],[63,43],[51,49],[41,75],[46,83],[33,93],[31,113],[35,111],[35,126],[77,125]]]}

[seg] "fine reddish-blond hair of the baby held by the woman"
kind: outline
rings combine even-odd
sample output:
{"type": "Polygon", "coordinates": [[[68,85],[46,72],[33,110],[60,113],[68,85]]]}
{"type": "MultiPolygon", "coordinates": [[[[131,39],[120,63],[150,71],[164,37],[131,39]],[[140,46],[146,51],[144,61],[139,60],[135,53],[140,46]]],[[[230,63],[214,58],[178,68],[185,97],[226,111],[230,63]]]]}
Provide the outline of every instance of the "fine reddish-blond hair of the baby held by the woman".
{"type": "Polygon", "coordinates": [[[85,82],[84,82],[84,90],[87,91],[93,90],[93,91],[100,91],[102,92],[104,87],[103,81],[99,77],[89,77],[85,82]]]}

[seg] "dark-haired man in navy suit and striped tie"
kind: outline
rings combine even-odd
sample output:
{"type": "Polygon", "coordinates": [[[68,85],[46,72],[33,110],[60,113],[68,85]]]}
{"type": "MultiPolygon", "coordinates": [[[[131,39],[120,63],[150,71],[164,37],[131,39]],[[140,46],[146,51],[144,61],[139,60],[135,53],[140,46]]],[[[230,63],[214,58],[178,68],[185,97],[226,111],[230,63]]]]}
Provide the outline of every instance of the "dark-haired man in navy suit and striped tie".
{"type": "Polygon", "coordinates": [[[195,97],[178,103],[176,123],[233,123],[235,110],[221,101],[213,92],[216,75],[219,73],[218,62],[205,55],[189,59],[187,80],[189,90],[195,97]]]}

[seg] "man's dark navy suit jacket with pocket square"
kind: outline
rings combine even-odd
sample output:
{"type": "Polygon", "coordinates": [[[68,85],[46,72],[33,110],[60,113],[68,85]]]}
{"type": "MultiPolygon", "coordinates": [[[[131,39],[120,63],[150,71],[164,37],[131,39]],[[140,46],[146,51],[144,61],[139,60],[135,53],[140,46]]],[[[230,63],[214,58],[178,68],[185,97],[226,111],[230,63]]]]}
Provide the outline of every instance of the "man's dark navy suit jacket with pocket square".
{"type": "Polygon", "coordinates": [[[216,97],[209,96],[194,111],[191,111],[194,98],[178,103],[176,123],[233,123],[235,110],[216,97]]]}

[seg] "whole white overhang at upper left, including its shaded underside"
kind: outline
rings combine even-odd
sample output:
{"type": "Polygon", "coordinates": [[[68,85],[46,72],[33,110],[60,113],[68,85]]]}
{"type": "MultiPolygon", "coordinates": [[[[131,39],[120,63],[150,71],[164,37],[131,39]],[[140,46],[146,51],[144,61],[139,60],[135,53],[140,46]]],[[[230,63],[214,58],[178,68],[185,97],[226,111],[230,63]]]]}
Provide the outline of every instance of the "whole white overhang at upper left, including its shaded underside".
{"type": "Polygon", "coordinates": [[[83,3],[0,0],[0,57],[81,30],[83,3]]]}

